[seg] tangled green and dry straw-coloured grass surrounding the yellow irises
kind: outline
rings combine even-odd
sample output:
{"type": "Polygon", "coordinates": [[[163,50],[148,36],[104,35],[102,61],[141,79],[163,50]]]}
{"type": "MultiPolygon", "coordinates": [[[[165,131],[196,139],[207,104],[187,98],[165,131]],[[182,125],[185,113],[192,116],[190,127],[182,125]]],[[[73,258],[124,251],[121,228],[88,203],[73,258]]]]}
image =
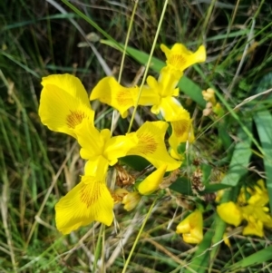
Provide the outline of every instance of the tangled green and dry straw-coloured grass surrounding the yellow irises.
{"type": "MultiPolygon", "coordinates": [[[[93,223],[66,237],[55,229],[54,204],[78,182],[83,161],[71,138],[49,132],[41,125],[37,115],[41,77],[49,73],[74,73],[91,90],[106,72],[89,47],[77,47],[84,37],[71,20],[85,34],[99,34],[97,30],[66,5],[62,6],[68,14],[61,13],[53,4],[31,0],[12,1],[8,6],[0,4],[4,26],[0,34],[0,271],[95,272],[96,267],[101,271],[121,272],[151,200],[144,199],[130,214],[118,207],[115,210],[118,227],[103,231],[98,223],[93,223]]],[[[131,3],[79,3],[76,7],[116,41],[125,42],[131,3]]],[[[139,3],[129,40],[129,46],[138,49],[138,53],[150,52],[161,9],[162,3],[158,1],[139,3]]],[[[266,130],[271,126],[271,96],[260,95],[258,101],[233,110],[248,97],[271,88],[268,15],[269,5],[265,1],[258,6],[251,2],[181,5],[180,1],[171,1],[154,52],[155,57],[164,60],[160,43],[179,41],[192,48],[206,45],[208,62],[201,69],[198,66],[189,69],[186,76],[199,83],[199,88],[214,86],[227,109],[226,116],[217,122],[202,120],[204,104],[194,102],[190,93],[180,100],[190,103],[198,128],[198,141],[189,156],[204,161],[209,169],[227,173],[225,183],[232,186],[228,199],[259,176],[267,179],[268,187],[272,183],[271,134],[266,130]],[[239,153],[245,146],[237,143],[248,143],[248,153],[239,153]],[[229,166],[241,167],[237,176],[228,176],[229,166]]],[[[118,72],[121,53],[106,44],[93,42],[93,45],[108,67],[118,72]]],[[[145,64],[145,59],[142,60],[145,64]]],[[[139,62],[139,54],[125,59],[123,83],[131,83],[139,71],[139,62]]],[[[98,109],[103,117],[102,127],[108,126],[111,112],[98,109]]],[[[145,115],[146,112],[141,112],[141,117],[145,115]]],[[[127,126],[127,121],[119,122],[120,131],[127,126]]],[[[189,166],[185,171],[189,171],[189,166]]],[[[188,190],[189,186],[185,188],[188,190]]],[[[234,229],[230,231],[231,249],[228,249],[215,236],[219,219],[214,221],[215,213],[210,210],[204,221],[207,235],[199,248],[192,247],[175,233],[184,210],[177,207],[170,195],[177,196],[171,190],[151,211],[127,272],[271,270],[266,259],[271,243],[269,230],[265,239],[258,239],[244,237],[240,230],[234,229]],[[251,256],[254,253],[257,256],[251,256]]],[[[269,196],[271,202],[271,191],[269,196]]]]}

